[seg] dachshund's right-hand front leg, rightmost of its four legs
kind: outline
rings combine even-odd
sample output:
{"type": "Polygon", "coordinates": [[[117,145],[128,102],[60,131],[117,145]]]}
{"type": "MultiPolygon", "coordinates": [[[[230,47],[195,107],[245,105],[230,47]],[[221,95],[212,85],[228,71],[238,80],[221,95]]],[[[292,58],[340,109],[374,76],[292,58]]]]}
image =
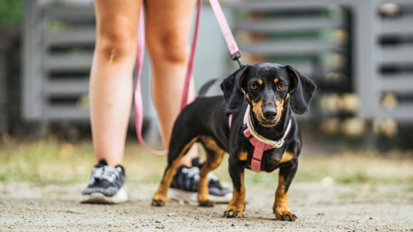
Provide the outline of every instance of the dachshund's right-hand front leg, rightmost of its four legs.
{"type": "Polygon", "coordinates": [[[294,178],[297,171],[298,160],[292,161],[291,165],[280,168],[278,187],[275,192],[275,202],[272,210],[275,214],[275,218],[278,220],[294,221],[297,216],[290,211],[287,204],[288,187],[294,178]]]}

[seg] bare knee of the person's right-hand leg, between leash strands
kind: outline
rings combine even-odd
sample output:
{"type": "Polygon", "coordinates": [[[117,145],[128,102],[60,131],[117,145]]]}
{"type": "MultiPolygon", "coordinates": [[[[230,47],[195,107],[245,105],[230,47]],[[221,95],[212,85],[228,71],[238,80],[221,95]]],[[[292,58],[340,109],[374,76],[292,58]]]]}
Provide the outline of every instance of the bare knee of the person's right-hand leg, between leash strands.
{"type": "Polygon", "coordinates": [[[147,31],[148,51],[152,61],[184,64],[188,57],[188,38],[179,31],[147,31]]]}

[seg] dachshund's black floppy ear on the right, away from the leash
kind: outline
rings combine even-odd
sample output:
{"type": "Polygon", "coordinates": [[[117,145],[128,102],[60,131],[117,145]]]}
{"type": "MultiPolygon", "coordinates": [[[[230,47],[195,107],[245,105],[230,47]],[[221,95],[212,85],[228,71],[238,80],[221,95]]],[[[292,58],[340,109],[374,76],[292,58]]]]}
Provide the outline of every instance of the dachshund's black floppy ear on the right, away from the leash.
{"type": "Polygon", "coordinates": [[[315,90],[315,84],[312,80],[299,73],[290,65],[284,66],[293,83],[291,90],[291,108],[297,114],[303,114],[308,111],[312,94],[315,90]]]}

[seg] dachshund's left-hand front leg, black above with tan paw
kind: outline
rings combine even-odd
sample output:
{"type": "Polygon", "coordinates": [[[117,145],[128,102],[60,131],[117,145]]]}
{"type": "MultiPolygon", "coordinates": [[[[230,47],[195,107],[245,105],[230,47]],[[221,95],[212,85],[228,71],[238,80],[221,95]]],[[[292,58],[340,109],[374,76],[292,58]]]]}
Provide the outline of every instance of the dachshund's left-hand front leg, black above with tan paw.
{"type": "Polygon", "coordinates": [[[223,217],[241,217],[245,208],[245,185],[244,185],[244,167],[231,162],[229,159],[229,174],[231,175],[234,190],[232,199],[224,211],[223,217]]]}

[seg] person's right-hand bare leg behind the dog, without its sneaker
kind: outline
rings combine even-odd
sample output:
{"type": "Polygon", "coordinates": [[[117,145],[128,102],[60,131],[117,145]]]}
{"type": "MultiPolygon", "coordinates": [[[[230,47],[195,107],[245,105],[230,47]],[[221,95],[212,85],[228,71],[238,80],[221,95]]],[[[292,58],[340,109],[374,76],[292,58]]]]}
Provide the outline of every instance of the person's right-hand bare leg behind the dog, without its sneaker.
{"type": "MultiPolygon", "coordinates": [[[[147,0],[147,47],[153,67],[152,92],[162,140],[169,147],[172,127],[180,112],[181,93],[189,56],[189,32],[196,0],[147,0]]],[[[188,101],[195,97],[191,81],[188,101]]],[[[177,164],[192,166],[194,145],[177,164]]]]}

